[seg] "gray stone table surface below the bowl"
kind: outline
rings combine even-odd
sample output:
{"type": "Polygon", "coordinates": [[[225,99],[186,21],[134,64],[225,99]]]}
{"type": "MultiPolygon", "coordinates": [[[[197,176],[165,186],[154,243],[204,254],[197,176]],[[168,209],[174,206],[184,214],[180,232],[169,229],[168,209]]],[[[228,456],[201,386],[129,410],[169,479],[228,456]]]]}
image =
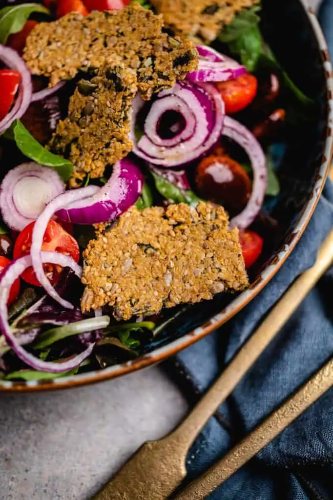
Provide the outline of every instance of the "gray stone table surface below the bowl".
{"type": "Polygon", "coordinates": [[[186,410],[156,366],[87,387],[0,395],[0,499],[88,500],[186,410]]]}

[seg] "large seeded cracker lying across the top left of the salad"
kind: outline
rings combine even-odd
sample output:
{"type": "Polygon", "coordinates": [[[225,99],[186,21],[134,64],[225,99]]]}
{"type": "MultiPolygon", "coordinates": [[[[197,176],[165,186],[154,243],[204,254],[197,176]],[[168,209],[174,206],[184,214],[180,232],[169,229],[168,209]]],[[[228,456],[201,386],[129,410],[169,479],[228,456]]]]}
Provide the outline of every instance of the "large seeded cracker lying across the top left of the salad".
{"type": "Polygon", "coordinates": [[[50,86],[120,57],[136,70],[143,98],[169,88],[197,66],[194,44],[162,33],[163,20],[134,3],[121,10],[94,10],[86,17],[71,12],[40,22],[26,40],[24,59],[32,74],[50,78],[50,86]]]}

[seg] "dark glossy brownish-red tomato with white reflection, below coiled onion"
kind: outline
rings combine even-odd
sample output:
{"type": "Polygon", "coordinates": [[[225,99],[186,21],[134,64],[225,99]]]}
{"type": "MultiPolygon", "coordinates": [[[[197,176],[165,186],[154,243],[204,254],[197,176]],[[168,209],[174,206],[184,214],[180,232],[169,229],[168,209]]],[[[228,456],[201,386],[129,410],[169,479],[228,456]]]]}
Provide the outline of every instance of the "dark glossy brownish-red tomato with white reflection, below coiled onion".
{"type": "Polygon", "coordinates": [[[199,193],[232,214],[240,212],[251,192],[251,181],[239,163],[225,154],[203,158],[196,168],[199,193]]]}

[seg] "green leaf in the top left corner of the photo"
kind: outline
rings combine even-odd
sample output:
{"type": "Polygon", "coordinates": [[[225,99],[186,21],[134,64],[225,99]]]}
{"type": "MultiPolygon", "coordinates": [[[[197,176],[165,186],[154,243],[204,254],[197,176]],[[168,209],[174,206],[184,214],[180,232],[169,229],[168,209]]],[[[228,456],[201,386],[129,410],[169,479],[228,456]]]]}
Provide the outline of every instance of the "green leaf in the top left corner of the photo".
{"type": "Polygon", "coordinates": [[[4,45],[10,34],[20,31],[29,15],[33,12],[41,12],[49,15],[49,10],[38,3],[23,3],[1,8],[0,43],[4,45]]]}

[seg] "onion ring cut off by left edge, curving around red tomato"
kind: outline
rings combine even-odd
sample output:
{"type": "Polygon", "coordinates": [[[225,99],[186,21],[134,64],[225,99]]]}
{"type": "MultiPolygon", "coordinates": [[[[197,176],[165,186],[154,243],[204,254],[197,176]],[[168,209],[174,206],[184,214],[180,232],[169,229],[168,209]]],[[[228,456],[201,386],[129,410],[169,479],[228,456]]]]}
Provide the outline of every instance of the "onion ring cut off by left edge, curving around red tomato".
{"type": "Polygon", "coordinates": [[[0,44],[0,60],[10,69],[18,71],[21,81],[18,88],[18,95],[9,113],[0,121],[0,133],[6,130],[14,119],[23,116],[27,110],[32,96],[31,74],[23,59],[16,50],[0,44]]]}

